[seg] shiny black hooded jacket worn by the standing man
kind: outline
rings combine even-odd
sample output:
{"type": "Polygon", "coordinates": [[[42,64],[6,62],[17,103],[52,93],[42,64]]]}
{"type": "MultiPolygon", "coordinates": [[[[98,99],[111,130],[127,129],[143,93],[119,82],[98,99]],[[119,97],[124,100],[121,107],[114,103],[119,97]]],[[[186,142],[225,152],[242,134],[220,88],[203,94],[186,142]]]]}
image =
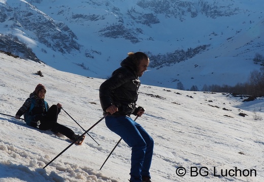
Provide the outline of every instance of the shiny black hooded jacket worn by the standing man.
{"type": "Polygon", "coordinates": [[[142,108],[136,107],[140,87],[137,66],[129,57],[125,58],[120,65],[121,67],[112,73],[111,78],[100,86],[101,106],[104,114],[109,106],[115,105],[118,107],[118,112],[112,116],[137,115],[139,108],[142,108]]]}

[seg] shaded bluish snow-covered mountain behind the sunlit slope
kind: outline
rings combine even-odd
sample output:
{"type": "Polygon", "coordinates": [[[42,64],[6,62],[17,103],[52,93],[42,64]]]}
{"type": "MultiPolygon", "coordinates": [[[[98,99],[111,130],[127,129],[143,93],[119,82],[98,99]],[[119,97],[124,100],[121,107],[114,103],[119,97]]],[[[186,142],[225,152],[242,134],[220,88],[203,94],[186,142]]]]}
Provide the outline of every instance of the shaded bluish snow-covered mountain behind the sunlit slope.
{"type": "Polygon", "coordinates": [[[2,0],[1,40],[12,44],[0,47],[96,78],[142,51],[151,60],[144,84],[235,85],[259,69],[252,59],[263,52],[263,9],[262,0],[2,0]]]}

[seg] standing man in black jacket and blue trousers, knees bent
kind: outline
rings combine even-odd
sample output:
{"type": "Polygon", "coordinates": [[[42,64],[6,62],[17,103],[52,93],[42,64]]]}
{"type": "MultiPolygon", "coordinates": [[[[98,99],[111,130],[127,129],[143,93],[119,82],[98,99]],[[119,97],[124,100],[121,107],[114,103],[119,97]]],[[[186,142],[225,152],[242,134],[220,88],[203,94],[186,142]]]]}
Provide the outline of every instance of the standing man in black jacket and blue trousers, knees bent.
{"type": "Polygon", "coordinates": [[[150,165],[154,141],[143,127],[130,118],[130,115],[141,117],[143,107],[137,107],[140,80],[147,70],[149,58],[142,52],[130,52],[121,62],[111,78],[100,86],[100,102],[104,111],[107,127],[121,136],[131,147],[131,182],[151,182],[150,165]]]}

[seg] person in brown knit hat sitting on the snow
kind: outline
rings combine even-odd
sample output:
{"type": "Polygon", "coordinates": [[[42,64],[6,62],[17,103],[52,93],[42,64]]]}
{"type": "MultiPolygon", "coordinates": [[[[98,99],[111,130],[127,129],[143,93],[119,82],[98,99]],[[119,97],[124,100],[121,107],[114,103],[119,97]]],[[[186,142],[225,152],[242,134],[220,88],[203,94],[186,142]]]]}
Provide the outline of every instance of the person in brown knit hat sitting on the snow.
{"type": "MultiPolygon", "coordinates": [[[[35,91],[30,93],[24,104],[19,108],[15,118],[20,119],[24,115],[27,125],[39,128],[40,130],[49,130],[54,133],[61,133],[72,140],[76,140],[80,135],[74,133],[70,128],[57,123],[58,114],[61,110],[61,104],[57,103],[49,107],[44,100],[46,88],[42,84],[38,84],[35,91]]],[[[77,144],[81,144],[84,137],[77,140],[77,144]]]]}

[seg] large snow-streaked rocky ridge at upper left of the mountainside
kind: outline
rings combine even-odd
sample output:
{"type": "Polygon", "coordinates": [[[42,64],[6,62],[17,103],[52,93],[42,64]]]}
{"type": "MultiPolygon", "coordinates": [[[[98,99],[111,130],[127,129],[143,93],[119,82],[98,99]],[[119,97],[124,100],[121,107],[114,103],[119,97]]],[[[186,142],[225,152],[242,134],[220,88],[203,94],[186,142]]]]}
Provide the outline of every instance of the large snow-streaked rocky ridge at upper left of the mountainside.
{"type": "MultiPolygon", "coordinates": [[[[76,42],[76,35],[65,23],[53,20],[32,4],[23,1],[7,1],[0,6],[0,10],[2,24],[10,29],[29,32],[28,38],[44,44],[47,48],[61,54],[80,49],[80,45],[76,42]]],[[[5,49],[5,46],[1,48],[5,49]]],[[[19,50],[14,51],[19,52],[19,50]]],[[[24,57],[28,58],[26,55],[24,57]]]]}

